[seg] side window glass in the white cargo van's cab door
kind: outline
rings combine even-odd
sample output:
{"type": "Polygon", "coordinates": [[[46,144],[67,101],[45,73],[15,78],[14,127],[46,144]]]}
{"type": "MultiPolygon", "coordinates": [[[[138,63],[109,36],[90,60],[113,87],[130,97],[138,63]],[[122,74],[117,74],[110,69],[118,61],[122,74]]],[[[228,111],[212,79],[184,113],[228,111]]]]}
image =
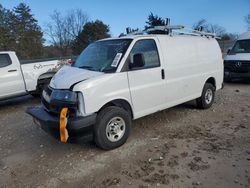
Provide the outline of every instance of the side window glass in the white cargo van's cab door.
{"type": "Polygon", "coordinates": [[[129,58],[130,63],[133,63],[133,56],[135,54],[142,54],[144,56],[145,65],[143,68],[153,68],[160,66],[159,54],[153,39],[139,40],[133,46],[129,58]]]}

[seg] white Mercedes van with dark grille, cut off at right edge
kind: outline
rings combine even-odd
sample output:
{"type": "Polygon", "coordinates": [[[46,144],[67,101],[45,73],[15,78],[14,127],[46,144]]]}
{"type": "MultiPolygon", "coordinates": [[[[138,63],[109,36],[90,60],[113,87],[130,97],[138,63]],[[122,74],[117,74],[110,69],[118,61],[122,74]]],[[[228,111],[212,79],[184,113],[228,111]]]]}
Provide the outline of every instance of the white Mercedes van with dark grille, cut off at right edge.
{"type": "Polygon", "coordinates": [[[243,33],[224,58],[224,79],[250,78],[250,31],[243,33]]]}

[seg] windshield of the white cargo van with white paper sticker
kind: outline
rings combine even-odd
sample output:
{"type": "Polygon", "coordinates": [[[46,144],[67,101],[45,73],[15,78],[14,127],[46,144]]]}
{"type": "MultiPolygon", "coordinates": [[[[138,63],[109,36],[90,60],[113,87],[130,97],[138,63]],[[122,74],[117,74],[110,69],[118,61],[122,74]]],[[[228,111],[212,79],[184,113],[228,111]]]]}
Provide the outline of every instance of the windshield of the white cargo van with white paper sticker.
{"type": "Polygon", "coordinates": [[[131,39],[98,41],[83,50],[74,67],[98,72],[115,72],[131,39]]]}

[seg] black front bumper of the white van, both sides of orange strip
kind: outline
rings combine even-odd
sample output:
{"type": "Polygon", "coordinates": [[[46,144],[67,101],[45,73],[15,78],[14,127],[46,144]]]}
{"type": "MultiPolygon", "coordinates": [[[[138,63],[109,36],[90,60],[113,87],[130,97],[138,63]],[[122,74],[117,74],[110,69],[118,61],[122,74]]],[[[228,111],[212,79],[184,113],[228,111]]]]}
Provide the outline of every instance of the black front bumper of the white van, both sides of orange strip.
{"type": "MultiPolygon", "coordinates": [[[[60,117],[49,114],[43,107],[30,107],[26,110],[34,118],[34,122],[45,132],[60,140],[60,117]]],[[[96,114],[86,117],[69,117],[66,121],[67,142],[89,142],[93,140],[93,125],[96,114]]]]}

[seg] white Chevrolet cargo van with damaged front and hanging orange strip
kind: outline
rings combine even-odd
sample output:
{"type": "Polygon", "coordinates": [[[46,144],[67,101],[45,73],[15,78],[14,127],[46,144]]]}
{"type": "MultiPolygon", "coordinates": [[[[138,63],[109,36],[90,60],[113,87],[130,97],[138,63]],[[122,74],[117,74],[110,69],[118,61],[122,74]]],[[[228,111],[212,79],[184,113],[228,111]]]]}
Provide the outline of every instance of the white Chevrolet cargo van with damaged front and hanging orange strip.
{"type": "Polygon", "coordinates": [[[209,108],[222,88],[223,60],[211,36],[128,35],[90,44],[27,113],[62,142],[124,144],[131,121],[196,99],[209,108]]]}

